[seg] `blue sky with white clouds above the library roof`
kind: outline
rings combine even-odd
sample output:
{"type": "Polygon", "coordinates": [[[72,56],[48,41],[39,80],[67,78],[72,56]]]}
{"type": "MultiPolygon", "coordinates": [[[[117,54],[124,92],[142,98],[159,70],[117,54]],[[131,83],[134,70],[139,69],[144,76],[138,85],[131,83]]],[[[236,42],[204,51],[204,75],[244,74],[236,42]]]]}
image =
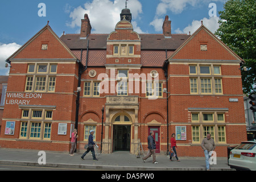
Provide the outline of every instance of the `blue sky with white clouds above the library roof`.
{"type": "MultiPolygon", "coordinates": [[[[128,0],[134,31],[161,34],[166,15],[172,21],[172,34],[191,34],[203,20],[212,32],[218,28],[218,11],[226,0],[128,0]],[[216,9],[210,6],[216,5],[216,9]],[[216,11],[212,11],[216,10],[216,11]],[[216,13],[216,16],[209,16],[216,13]]],[[[8,75],[5,60],[32,36],[49,26],[59,36],[80,33],[81,19],[87,13],[92,33],[109,34],[120,20],[125,0],[10,0],[0,1],[0,75],[8,75]],[[44,3],[45,8],[39,6],[44,3]],[[43,10],[43,11],[42,11],[43,10]],[[45,11],[44,11],[45,10],[45,11]],[[46,16],[39,16],[45,13],[46,16]]]]}

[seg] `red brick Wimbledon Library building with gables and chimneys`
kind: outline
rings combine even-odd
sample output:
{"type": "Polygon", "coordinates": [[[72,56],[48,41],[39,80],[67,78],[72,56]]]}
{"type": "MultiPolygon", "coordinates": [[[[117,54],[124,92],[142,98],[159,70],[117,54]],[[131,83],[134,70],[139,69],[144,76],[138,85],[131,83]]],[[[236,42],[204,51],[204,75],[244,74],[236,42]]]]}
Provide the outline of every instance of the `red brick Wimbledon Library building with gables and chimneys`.
{"type": "Polygon", "coordinates": [[[73,128],[77,150],[93,129],[104,153],[147,150],[150,130],[162,154],[175,133],[179,156],[204,156],[207,133],[217,156],[246,140],[243,60],[203,24],[171,34],[166,16],[163,34],[138,34],[124,9],[110,34],[91,29],[88,15],[81,34],[47,25],[9,57],[1,147],[69,151],[73,128]]]}

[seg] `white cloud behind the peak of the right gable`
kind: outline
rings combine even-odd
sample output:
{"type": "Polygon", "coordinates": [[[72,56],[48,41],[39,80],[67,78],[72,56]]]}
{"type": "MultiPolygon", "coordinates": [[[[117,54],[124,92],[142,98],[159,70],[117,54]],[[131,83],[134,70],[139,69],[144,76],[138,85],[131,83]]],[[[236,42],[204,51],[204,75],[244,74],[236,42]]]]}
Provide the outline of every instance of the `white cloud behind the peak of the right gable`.
{"type": "Polygon", "coordinates": [[[177,34],[189,34],[191,32],[191,35],[201,26],[201,21],[203,20],[203,24],[205,27],[207,27],[211,32],[215,32],[220,24],[218,23],[218,20],[220,20],[217,16],[212,16],[209,19],[203,18],[201,20],[193,20],[191,24],[189,24],[187,27],[185,27],[182,31],[180,28],[175,30],[177,34]]]}

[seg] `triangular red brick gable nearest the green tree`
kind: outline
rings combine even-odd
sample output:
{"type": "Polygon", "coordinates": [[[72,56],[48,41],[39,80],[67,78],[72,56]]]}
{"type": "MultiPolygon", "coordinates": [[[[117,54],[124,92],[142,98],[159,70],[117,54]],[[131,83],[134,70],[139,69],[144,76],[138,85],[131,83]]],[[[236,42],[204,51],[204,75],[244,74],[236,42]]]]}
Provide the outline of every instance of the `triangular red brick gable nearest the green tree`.
{"type": "Polygon", "coordinates": [[[181,45],[170,59],[242,61],[236,53],[222,43],[204,26],[201,26],[191,38],[181,45]],[[201,50],[201,45],[203,50],[201,50]]]}

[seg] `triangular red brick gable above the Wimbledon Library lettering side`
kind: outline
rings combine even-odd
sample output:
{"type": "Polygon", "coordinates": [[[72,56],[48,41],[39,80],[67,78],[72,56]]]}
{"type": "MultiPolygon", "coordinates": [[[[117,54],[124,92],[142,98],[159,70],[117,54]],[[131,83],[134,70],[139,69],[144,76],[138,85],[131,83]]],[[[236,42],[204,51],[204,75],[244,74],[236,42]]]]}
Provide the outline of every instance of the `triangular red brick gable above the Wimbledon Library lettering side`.
{"type": "Polygon", "coordinates": [[[47,25],[9,59],[76,59],[76,57],[47,25]],[[42,44],[48,45],[47,50],[42,50],[42,44]]]}

